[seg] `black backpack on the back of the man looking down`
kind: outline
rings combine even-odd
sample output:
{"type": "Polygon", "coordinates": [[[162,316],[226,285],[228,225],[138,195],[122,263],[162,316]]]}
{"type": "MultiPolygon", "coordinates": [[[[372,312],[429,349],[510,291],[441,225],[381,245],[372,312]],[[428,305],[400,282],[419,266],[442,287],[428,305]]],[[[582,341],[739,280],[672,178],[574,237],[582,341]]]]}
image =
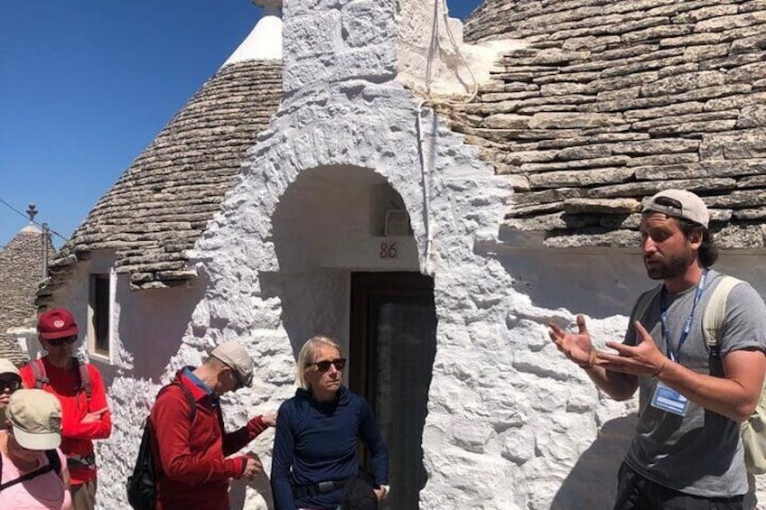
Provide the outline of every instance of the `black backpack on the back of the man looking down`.
{"type": "MultiPolygon", "coordinates": [[[[159,397],[170,386],[178,386],[189,401],[189,421],[194,421],[197,413],[197,404],[194,402],[192,392],[183,383],[173,382],[164,386],[157,394],[159,397]]],[[[135,510],[154,510],[157,500],[157,473],[152,456],[152,443],[154,442],[154,428],[152,427],[151,415],[144,422],[144,435],[141,436],[141,445],[138,447],[138,456],[135,459],[133,475],[127,478],[127,501],[135,510]]]]}

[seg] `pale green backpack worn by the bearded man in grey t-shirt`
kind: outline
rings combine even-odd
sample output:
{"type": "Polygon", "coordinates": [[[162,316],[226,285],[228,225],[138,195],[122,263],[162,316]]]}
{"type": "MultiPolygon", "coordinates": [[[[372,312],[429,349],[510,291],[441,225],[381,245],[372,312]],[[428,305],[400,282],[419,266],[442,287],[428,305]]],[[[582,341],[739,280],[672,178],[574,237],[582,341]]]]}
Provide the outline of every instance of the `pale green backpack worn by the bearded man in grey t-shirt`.
{"type": "MultiPolygon", "coordinates": [[[[726,317],[726,299],[737,283],[733,276],[724,276],[718,286],[715,287],[705,307],[705,315],[702,317],[702,329],[705,335],[705,343],[711,351],[718,348],[721,337],[721,328],[724,326],[726,317]]],[[[755,411],[750,418],[740,425],[744,445],[744,462],[747,471],[753,475],[766,473],[766,385],[761,391],[761,398],[755,411]]]]}

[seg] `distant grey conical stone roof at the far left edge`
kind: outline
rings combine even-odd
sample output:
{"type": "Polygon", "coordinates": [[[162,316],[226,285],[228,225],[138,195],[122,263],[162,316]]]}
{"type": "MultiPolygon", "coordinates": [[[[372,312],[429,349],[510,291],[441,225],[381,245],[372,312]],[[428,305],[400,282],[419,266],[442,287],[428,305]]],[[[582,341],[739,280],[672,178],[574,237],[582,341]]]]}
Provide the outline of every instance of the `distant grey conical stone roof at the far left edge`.
{"type": "MultiPolygon", "coordinates": [[[[45,242],[52,254],[51,240],[45,242]]],[[[42,246],[41,230],[28,226],[0,250],[0,357],[16,365],[27,357],[7,330],[34,326],[34,299],[42,282],[42,246]]]]}

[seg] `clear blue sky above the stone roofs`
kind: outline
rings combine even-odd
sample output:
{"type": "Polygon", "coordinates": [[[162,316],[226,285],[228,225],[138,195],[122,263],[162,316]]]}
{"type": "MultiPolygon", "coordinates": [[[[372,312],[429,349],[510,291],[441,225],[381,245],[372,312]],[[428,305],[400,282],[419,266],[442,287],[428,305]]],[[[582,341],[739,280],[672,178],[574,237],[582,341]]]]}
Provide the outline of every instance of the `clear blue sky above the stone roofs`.
{"type": "MultiPolygon", "coordinates": [[[[458,18],[479,4],[448,0],[458,18]]],[[[249,0],[2,0],[0,199],[69,237],[259,16],[249,0]]],[[[0,203],[0,246],[27,223],[0,203]]]]}

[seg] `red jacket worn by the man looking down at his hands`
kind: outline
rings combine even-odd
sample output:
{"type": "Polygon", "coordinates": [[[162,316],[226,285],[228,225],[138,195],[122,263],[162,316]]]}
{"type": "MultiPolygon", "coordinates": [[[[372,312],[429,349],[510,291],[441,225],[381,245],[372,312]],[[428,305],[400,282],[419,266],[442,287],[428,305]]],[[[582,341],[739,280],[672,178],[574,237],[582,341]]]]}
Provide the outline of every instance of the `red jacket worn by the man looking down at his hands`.
{"type": "Polygon", "coordinates": [[[154,459],[160,459],[156,510],[229,510],[229,479],[245,471],[246,456],[226,459],[266,430],[260,416],[225,433],[220,406],[179,372],[175,381],[192,392],[194,422],[181,388],[171,385],[152,407],[154,459]]]}

